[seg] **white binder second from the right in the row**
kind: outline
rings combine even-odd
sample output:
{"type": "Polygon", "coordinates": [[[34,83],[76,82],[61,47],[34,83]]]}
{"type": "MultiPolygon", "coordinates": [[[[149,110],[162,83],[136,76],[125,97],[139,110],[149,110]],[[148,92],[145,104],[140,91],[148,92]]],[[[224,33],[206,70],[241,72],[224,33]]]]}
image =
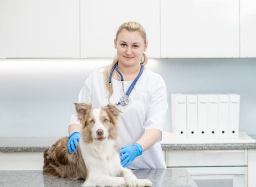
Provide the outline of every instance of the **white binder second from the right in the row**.
{"type": "Polygon", "coordinates": [[[219,127],[218,135],[220,138],[228,137],[229,125],[229,95],[219,95],[219,127]]]}

